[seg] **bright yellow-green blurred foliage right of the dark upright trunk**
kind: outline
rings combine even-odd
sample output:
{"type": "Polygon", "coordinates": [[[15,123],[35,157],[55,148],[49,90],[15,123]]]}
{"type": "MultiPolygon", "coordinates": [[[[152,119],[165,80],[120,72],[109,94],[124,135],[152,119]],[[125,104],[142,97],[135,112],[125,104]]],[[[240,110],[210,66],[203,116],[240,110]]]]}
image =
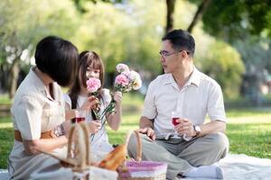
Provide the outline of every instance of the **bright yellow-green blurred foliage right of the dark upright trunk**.
{"type": "MultiPolygon", "coordinates": [[[[191,12],[197,10],[196,6],[187,1],[178,1],[176,5],[179,11],[174,17],[175,26],[185,29],[192,21],[191,12]]],[[[236,98],[239,94],[242,75],[245,73],[244,63],[236,49],[221,40],[215,40],[201,27],[202,23],[198,23],[192,31],[196,42],[194,63],[203,73],[218,81],[227,99],[236,98]]]]}

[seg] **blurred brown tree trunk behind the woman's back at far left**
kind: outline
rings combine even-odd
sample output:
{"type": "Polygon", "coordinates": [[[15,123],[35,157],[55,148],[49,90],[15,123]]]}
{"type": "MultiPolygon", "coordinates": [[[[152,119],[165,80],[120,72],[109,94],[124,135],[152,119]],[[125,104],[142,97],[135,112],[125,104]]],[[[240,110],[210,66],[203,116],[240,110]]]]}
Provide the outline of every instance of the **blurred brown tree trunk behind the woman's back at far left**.
{"type": "Polygon", "coordinates": [[[18,82],[19,71],[20,71],[19,62],[20,62],[20,58],[19,57],[15,58],[10,69],[11,76],[9,80],[10,86],[9,86],[9,91],[8,91],[10,98],[14,97],[15,91],[17,89],[17,82],[18,82]]]}

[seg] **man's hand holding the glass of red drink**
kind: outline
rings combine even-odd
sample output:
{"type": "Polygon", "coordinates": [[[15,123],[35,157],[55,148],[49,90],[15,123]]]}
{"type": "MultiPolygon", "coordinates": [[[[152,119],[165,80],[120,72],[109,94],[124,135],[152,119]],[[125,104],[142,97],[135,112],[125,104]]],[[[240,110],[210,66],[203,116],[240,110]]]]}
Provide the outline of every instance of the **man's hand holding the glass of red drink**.
{"type": "Polygon", "coordinates": [[[175,126],[175,130],[183,135],[186,134],[187,136],[193,137],[196,135],[196,131],[194,130],[193,124],[190,120],[186,118],[179,118],[177,121],[180,123],[175,126]]]}

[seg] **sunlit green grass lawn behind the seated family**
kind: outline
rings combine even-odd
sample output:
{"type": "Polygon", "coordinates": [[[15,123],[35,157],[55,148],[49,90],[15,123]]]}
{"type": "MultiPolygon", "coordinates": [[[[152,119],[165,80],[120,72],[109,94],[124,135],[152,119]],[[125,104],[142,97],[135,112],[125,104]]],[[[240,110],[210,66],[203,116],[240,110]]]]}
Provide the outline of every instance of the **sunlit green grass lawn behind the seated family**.
{"type": "MultiPolygon", "coordinates": [[[[127,130],[138,128],[142,104],[142,98],[125,94],[121,128],[117,131],[108,130],[112,144],[121,143],[127,130]]],[[[271,108],[228,110],[227,116],[230,153],[271,158],[271,108]]],[[[11,118],[0,118],[0,168],[7,166],[6,159],[13,139],[11,118]]]]}

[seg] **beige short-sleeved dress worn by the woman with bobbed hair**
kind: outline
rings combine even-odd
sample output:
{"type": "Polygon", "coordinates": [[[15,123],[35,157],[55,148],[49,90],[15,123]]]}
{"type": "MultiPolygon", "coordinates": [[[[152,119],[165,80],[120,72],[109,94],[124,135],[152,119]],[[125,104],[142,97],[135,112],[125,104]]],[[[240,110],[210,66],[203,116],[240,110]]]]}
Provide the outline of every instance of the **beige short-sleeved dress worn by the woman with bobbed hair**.
{"type": "MultiPolygon", "coordinates": [[[[20,130],[22,138],[28,140],[40,139],[41,132],[53,130],[65,121],[65,106],[60,85],[53,84],[54,99],[51,99],[33,68],[19,86],[11,109],[14,130],[20,130]]],[[[52,153],[65,157],[67,148],[56,148],[52,153]]],[[[11,179],[28,179],[34,171],[56,163],[55,159],[43,154],[26,155],[23,143],[17,140],[14,140],[8,160],[11,179]]]]}

